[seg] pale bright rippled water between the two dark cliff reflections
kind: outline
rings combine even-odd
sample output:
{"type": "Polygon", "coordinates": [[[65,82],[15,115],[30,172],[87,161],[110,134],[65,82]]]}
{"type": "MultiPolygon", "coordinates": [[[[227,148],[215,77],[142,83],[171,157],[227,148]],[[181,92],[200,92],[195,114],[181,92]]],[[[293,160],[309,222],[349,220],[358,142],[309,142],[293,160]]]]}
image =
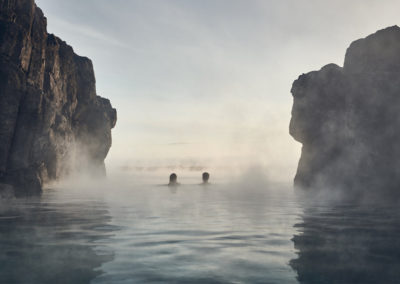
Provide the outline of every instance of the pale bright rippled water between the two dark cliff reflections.
{"type": "Polygon", "coordinates": [[[298,210],[261,188],[119,189],[109,198],[115,259],[93,283],[297,283],[288,265],[298,210]]]}

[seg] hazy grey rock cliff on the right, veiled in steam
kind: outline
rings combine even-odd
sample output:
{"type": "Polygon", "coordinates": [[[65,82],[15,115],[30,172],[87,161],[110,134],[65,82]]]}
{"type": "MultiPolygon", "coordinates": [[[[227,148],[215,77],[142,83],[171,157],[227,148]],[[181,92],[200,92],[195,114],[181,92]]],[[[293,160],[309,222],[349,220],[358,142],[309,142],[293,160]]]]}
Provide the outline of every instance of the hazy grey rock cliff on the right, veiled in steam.
{"type": "Polygon", "coordinates": [[[399,27],[353,42],[343,68],[303,74],[291,92],[295,185],[400,193],[399,27]]]}

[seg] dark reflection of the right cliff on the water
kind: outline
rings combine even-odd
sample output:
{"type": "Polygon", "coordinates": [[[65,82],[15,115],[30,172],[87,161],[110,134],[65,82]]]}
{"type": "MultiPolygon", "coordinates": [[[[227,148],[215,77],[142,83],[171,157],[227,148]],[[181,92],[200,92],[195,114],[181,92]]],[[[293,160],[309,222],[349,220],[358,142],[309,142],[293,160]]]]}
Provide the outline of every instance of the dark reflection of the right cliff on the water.
{"type": "Polygon", "coordinates": [[[399,283],[397,208],[308,209],[293,238],[290,262],[300,283],[399,283]]]}

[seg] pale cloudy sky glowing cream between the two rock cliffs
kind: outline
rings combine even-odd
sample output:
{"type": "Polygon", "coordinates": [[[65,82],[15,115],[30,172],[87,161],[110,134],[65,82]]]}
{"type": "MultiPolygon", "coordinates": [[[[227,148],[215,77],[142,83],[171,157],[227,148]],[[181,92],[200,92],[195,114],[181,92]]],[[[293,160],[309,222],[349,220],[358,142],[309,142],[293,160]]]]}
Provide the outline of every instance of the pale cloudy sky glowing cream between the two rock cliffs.
{"type": "Polygon", "coordinates": [[[118,121],[108,168],[261,165],[293,178],[293,81],[400,25],[398,0],[36,0],[92,59],[118,121]]]}

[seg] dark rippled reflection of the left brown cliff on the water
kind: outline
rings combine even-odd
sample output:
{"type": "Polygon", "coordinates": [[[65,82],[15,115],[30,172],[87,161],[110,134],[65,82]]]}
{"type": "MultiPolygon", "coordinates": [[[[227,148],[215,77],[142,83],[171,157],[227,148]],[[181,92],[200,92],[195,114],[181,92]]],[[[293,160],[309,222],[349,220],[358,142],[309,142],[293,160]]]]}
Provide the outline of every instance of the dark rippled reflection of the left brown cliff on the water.
{"type": "Polygon", "coordinates": [[[116,227],[100,201],[48,192],[0,208],[2,283],[88,283],[113,259],[101,244],[116,227]]]}

